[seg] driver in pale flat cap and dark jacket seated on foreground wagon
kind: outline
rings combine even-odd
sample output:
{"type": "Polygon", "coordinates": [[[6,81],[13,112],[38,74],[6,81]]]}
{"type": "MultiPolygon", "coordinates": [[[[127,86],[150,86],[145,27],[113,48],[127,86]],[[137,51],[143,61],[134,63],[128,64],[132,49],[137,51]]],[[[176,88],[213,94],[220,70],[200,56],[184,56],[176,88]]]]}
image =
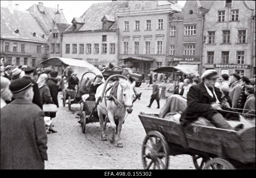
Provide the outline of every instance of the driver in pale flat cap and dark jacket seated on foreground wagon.
{"type": "MultiPolygon", "coordinates": [[[[202,82],[190,87],[187,95],[188,108],[185,116],[181,116],[180,122],[184,125],[188,122],[195,121],[198,117],[204,117],[217,128],[233,130],[225,120],[220,110],[222,102],[221,91],[216,88],[215,82],[218,77],[216,70],[206,70],[202,75],[202,82]]],[[[235,129],[241,129],[243,124],[239,124],[235,129]]]]}

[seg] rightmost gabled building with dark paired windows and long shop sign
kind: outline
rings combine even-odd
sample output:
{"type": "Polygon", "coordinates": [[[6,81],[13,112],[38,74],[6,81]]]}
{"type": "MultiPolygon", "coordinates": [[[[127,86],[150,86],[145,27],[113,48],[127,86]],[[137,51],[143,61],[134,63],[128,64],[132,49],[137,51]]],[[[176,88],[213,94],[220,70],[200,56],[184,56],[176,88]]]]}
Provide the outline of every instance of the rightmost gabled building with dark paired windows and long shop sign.
{"type": "Polygon", "coordinates": [[[254,24],[255,1],[215,1],[205,15],[202,70],[252,77],[254,24]]]}

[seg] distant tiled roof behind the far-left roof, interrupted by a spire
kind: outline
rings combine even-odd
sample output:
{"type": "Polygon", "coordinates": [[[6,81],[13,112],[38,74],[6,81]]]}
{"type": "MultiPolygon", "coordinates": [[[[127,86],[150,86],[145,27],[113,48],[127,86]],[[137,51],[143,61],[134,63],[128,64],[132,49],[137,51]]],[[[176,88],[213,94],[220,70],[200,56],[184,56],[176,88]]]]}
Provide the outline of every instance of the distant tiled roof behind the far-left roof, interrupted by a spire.
{"type": "MultiPolygon", "coordinates": [[[[53,19],[54,19],[54,14],[57,11],[56,9],[44,6],[44,12],[40,12],[38,9],[38,5],[33,4],[31,7],[29,7],[27,9],[27,11],[32,12],[32,15],[39,15],[40,20],[43,19],[43,23],[47,26],[47,28],[49,30],[51,30],[53,28],[53,26],[54,26],[53,19]]],[[[67,24],[68,22],[64,16],[63,12],[62,11],[59,11],[59,12],[60,12],[60,17],[61,17],[60,23],[67,24]]]]}

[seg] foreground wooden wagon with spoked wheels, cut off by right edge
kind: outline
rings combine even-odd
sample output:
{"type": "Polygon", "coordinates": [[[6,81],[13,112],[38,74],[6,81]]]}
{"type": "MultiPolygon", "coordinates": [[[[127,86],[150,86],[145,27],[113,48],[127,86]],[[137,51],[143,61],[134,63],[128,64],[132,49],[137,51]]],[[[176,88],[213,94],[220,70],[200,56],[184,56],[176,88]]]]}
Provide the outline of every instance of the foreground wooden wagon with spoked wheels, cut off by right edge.
{"type": "Polygon", "coordinates": [[[142,145],[145,169],[167,169],[169,155],[188,154],[196,169],[255,169],[255,126],[241,131],[179,122],[140,113],[147,133],[142,145]],[[199,162],[200,160],[200,162],[199,162]]]}

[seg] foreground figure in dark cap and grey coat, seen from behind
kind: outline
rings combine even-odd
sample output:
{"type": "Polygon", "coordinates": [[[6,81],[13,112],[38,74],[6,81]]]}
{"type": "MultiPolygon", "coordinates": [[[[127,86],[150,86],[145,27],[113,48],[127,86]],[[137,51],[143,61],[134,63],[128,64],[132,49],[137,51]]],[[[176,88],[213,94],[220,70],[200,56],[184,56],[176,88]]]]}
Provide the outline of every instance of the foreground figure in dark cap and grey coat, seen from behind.
{"type": "Polygon", "coordinates": [[[44,169],[47,134],[44,113],[32,103],[33,83],[19,78],[10,90],[15,100],[1,108],[1,169],[44,169]]]}

